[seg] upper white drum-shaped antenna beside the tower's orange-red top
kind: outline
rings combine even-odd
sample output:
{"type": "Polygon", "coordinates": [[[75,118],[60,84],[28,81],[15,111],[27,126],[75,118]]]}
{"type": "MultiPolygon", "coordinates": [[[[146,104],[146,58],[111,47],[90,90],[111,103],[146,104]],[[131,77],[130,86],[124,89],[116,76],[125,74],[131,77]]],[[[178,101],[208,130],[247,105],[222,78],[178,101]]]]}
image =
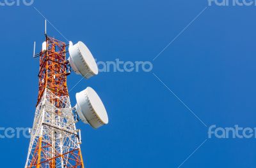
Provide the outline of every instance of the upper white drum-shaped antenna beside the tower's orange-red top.
{"type": "Polygon", "coordinates": [[[76,74],[81,74],[86,79],[98,74],[99,70],[95,59],[83,42],[79,41],[73,45],[70,41],[68,52],[70,54],[68,61],[76,74]]]}

